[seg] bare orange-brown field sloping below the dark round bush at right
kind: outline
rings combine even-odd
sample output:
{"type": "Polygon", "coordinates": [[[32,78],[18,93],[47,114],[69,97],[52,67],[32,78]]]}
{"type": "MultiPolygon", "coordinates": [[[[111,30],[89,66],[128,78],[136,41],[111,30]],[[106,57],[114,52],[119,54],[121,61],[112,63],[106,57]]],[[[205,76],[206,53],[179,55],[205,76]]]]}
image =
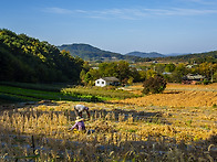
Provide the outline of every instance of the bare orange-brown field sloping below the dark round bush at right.
{"type": "MultiPolygon", "coordinates": [[[[140,88],[142,89],[142,86],[134,87],[135,90],[140,88]]],[[[163,94],[124,99],[118,102],[138,106],[213,107],[217,105],[217,84],[207,86],[170,84],[163,94]]]]}

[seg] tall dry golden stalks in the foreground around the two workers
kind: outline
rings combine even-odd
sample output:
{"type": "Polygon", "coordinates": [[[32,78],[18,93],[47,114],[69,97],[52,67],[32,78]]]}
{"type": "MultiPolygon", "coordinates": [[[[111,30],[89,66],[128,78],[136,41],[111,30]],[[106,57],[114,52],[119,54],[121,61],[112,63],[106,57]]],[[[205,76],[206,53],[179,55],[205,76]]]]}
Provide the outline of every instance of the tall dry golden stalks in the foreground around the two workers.
{"type": "MultiPolygon", "coordinates": [[[[0,159],[2,161],[28,159],[214,161],[216,158],[214,131],[203,141],[194,141],[188,137],[192,132],[187,130],[180,132],[179,128],[162,125],[155,120],[148,120],[147,125],[147,121],[136,118],[132,111],[124,114],[103,109],[92,110],[90,121],[85,121],[86,129],[95,132],[68,131],[74,123],[74,118],[73,111],[69,109],[54,111],[48,106],[2,111],[0,159]],[[154,125],[149,127],[152,122],[154,125]]],[[[205,134],[206,131],[203,136],[205,134]]]]}

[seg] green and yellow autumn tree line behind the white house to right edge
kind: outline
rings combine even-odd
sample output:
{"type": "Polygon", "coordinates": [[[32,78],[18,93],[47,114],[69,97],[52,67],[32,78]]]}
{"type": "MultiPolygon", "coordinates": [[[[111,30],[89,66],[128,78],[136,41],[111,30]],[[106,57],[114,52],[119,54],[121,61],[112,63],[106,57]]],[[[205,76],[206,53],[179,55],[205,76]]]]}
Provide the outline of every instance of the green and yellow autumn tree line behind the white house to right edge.
{"type": "Polygon", "coordinates": [[[187,74],[203,75],[205,80],[217,82],[217,63],[202,64],[184,64],[153,63],[148,66],[132,66],[126,61],[100,63],[97,68],[91,68],[87,62],[83,64],[83,69],[80,74],[83,85],[94,85],[95,79],[100,77],[114,76],[120,79],[123,85],[145,82],[151,77],[163,76],[167,83],[182,83],[182,79],[187,74]],[[189,66],[187,66],[189,65],[189,66]]]}

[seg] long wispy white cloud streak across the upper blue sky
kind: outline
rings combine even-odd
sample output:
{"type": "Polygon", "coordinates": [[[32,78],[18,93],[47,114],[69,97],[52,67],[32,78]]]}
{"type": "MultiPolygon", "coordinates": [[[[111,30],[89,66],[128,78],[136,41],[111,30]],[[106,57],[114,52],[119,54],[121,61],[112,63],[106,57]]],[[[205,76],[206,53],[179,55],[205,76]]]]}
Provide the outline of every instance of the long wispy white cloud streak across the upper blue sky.
{"type": "MultiPolygon", "coordinates": [[[[198,1],[198,0],[194,0],[198,1]]],[[[202,10],[202,9],[184,9],[184,8],[169,8],[169,9],[106,9],[106,10],[69,10],[62,8],[46,8],[45,12],[56,14],[79,15],[85,18],[97,19],[128,19],[137,20],[147,17],[176,17],[176,15],[203,15],[216,14],[217,10],[202,10]]]]}

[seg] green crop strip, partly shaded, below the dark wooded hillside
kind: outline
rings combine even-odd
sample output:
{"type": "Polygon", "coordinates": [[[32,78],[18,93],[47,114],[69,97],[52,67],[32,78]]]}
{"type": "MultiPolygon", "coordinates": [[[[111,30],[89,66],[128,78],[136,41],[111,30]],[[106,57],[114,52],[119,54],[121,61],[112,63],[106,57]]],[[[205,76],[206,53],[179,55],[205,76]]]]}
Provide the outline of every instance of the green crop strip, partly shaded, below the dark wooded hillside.
{"type": "Polygon", "coordinates": [[[0,102],[39,100],[104,101],[137,97],[128,91],[114,88],[74,87],[25,83],[0,83],[0,102]],[[62,87],[62,88],[61,88],[62,87]]]}

